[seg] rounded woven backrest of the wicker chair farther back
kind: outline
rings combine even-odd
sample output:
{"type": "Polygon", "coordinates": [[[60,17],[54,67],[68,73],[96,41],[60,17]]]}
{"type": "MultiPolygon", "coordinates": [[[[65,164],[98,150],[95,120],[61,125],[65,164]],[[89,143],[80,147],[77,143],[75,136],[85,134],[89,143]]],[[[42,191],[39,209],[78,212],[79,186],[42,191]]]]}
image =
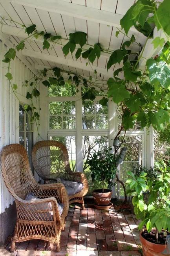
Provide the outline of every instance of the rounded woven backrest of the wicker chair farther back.
{"type": "Polygon", "coordinates": [[[59,141],[38,141],[33,147],[32,161],[43,179],[70,172],[67,148],[59,141]]]}

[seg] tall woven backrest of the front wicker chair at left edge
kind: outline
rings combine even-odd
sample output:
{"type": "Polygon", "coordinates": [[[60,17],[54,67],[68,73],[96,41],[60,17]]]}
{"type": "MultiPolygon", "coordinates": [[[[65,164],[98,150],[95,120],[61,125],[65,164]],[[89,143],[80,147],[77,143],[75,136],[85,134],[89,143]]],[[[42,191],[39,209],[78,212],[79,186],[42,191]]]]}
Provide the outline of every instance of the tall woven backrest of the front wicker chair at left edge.
{"type": "Polygon", "coordinates": [[[20,144],[7,145],[2,150],[2,176],[13,197],[25,199],[32,191],[34,178],[27,152],[20,144]]]}

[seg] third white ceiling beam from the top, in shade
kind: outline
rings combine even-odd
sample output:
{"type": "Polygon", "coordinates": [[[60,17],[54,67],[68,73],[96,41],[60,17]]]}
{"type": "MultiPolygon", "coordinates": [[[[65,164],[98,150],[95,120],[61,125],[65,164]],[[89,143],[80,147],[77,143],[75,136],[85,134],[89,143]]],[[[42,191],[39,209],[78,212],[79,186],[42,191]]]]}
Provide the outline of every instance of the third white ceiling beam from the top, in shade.
{"type": "Polygon", "coordinates": [[[31,51],[31,50],[22,50],[22,55],[29,56],[29,57],[32,57],[32,58],[42,59],[42,60],[46,60],[46,61],[51,61],[51,62],[54,62],[54,63],[67,65],[69,67],[83,69],[83,70],[87,70],[87,71],[90,71],[90,72],[93,72],[93,70],[96,69],[98,74],[104,74],[106,76],[113,76],[113,70],[108,70],[107,71],[107,69],[103,69],[101,67],[96,67],[96,66],[91,66],[91,65],[86,66],[86,63],[82,63],[82,62],[79,62],[79,61],[73,61],[71,59],[60,58],[60,57],[45,54],[45,53],[42,53],[42,52],[35,52],[35,51],[31,51]]]}

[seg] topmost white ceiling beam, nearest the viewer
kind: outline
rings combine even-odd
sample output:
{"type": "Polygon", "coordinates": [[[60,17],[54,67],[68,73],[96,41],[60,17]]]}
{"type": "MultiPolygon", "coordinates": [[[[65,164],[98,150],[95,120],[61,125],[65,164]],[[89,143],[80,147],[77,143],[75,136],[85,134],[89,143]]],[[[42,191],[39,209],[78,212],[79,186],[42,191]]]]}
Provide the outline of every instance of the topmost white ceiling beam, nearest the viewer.
{"type": "MultiPolygon", "coordinates": [[[[54,13],[61,13],[71,17],[76,17],[85,20],[91,20],[106,24],[109,26],[119,27],[120,20],[123,15],[103,11],[92,7],[82,6],[79,4],[72,4],[63,0],[5,0],[11,3],[20,4],[23,6],[30,6],[33,8],[51,11],[54,13]]],[[[135,30],[135,28],[132,28],[135,30]]],[[[136,31],[136,30],[135,30],[136,31]]]]}

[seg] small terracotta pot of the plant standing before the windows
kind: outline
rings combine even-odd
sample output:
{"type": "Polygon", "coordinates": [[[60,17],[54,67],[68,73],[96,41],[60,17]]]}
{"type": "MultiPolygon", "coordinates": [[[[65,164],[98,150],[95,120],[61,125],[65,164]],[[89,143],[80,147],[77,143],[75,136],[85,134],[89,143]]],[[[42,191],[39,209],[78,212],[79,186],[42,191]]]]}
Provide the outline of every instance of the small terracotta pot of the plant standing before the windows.
{"type": "Polygon", "coordinates": [[[102,189],[96,189],[93,191],[93,198],[96,205],[108,206],[112,198],[112,190],[104,189],[102,193],[102,189]]]}

